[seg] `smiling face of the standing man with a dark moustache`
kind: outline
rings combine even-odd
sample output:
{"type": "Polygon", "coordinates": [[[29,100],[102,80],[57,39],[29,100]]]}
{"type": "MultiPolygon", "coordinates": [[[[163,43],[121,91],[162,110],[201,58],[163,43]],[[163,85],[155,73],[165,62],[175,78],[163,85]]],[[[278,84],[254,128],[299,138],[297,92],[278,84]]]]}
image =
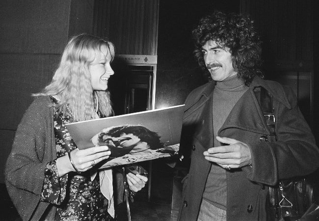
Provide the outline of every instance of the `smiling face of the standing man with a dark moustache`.
{"type": "Polygon", "coordinates": [[[237,74],[233,68],[232,56],[229,48],[222,48],[215,41],[207,41],[202,47],[204,61],[214,81],[223,81],[237,74]]]}

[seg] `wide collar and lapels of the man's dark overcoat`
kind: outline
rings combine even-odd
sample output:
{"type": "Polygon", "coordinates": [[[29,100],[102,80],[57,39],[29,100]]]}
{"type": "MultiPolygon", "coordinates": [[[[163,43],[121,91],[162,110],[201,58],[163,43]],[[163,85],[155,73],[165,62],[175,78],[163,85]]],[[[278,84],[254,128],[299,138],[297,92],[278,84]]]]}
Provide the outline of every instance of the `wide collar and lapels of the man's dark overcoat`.
{"type": "MultiPolygon", "coordinates": [[[[187,109],[192,110],[187,113],[185,117],[191,115],[191,113],[198,109],[201,109],[203,105],[209,105],[210,102],[208,101],[213,97],[214,87],[215,82],[212,81],[196,89],[197,92],[195,91],[194,94],[197,94],[197,96],[192,97],[194,99],[190,99],[193,100],[193,102],[187,107],[187,109]]],[[[257,87],[264,87],[279,103],[282,103],[288,109],[292,108],[281,84],[276,81],[264,80],[255,76],[249,86],[249,89],[236,103],[219,132],[226,128],[233,127],[261,134],[270,134],[268,126],[264,120],[264,115],[254,93],[254,89],[257,87]]],[[[209,114],[205,117],[206,119],[212,115],[211,111],[208,113],[209,114]]]]}

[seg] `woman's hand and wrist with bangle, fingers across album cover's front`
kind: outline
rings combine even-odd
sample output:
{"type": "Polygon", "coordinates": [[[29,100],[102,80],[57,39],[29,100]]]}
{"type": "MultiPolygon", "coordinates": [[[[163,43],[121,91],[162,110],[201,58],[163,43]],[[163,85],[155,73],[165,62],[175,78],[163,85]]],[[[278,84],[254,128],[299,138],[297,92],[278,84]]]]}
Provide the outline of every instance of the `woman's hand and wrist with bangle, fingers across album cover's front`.
{"type": "MultiPolygon", "coordinates": [[[[102,160],[108,159],[111,151],[107,146],[90,147],[87,149],[75,149],[70,152],[74,167],[78,172],[84,172],[102,160]]],[[[72,166],[68,154],[56,159],[56,166],[59,176],[63,176],[68,172],[76,171],[72,166]]]]}

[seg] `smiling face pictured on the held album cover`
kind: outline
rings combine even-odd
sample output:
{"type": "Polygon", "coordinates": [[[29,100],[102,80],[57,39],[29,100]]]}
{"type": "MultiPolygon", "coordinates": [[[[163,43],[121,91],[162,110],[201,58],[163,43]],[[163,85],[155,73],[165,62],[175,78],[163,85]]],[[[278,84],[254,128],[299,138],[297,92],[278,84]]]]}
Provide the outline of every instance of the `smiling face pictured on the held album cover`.
{"type": "Polygon", "coordinates": [[[113,146],[113,147],[123,147],[123,148],[128,148],[128,147],[134,147],[137,145],[141,140],[133,135],[133,134],[121,134],[120,137],[110,137],[107,135],[103,136],[103,142],[113,146]]]}

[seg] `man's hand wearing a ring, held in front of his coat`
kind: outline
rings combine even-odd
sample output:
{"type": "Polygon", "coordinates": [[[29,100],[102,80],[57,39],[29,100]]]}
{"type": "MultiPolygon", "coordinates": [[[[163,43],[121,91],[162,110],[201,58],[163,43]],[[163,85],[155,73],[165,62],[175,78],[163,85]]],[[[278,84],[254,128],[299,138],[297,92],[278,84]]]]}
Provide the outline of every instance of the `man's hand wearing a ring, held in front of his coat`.
{"type": "Polygon", "coordinates": [[[204,152],[206,160],[214,162],[225,169],[251,165],[251,153],[247,144],[227,137],[217,136],[216,140],[229,145],[209,148],[204,152]]]}

